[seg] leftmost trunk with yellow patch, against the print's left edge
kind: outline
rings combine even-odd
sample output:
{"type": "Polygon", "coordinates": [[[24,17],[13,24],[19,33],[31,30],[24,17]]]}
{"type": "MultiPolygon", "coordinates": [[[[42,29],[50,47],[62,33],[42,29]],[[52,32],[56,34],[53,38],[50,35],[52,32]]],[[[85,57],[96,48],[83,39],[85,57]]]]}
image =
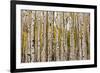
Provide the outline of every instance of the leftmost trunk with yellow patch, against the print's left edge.
{"type": "Polygon", "coordinates": [[[27,45],[27,42],[26,42],[26,39],[27,39],[27,32],[26,32],[26,11],[25,10],[22,10],[21,11],[21,62],[25,62],[25,59],[26,59],[26,54],[25,54],[25,51],[26,51],[26,45],[27,45]]]}

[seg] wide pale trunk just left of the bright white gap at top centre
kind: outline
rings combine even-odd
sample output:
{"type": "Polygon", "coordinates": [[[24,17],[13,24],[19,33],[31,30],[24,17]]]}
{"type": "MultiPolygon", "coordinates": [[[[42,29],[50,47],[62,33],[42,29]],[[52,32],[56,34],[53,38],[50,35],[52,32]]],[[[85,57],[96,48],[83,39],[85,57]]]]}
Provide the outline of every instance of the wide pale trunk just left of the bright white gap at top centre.
{"type": "Polygon", "coordinates": [[[48,12],[48,61],[52,60],[53,12],[48,12]]]}

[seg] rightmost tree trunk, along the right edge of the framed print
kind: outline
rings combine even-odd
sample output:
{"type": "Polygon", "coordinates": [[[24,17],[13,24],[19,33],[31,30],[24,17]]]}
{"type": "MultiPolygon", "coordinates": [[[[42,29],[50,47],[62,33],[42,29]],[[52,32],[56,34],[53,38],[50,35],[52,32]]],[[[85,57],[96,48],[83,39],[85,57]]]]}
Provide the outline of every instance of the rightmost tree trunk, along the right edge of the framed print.
{"type": "Polygon", "coordinates": [[[84,30],[85,30],[85,43],[86,43],[86,48],[84,49],[85,51],[85,59],[90,58],[90,15],[89,13],[84,13],[84,30]]]}

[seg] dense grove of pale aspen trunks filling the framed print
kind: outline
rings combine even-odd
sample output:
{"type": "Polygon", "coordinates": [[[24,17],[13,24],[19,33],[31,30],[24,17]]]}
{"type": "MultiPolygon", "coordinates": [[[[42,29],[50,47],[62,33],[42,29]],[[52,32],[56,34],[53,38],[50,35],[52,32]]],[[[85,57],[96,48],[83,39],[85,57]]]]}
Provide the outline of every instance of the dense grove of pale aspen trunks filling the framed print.
{"type": "Polygon", "coordinates": [[[90,14],[21,10],[21,62],[90,59],[90,14]]]}

